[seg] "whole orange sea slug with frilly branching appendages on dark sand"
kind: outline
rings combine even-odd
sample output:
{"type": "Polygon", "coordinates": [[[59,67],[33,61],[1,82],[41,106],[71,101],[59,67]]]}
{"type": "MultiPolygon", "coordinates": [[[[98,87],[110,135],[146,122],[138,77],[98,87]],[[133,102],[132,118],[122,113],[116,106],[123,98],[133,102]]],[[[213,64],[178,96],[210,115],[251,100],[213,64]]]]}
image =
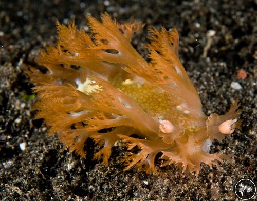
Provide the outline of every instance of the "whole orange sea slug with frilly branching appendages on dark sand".
{"type": "Polygon", "coordinates": [[[93,138],[103,148],[95,154],[108,165],[117,140],[128,150],[140,151],[124,159],[126,169],[136,166],[155,172],[161,166],[180,164],[182,171],[199,174],[203,162],[210,167],[231,155],[210,154],[208,145],[240,128],[238,102],[225,115],[203,111],[199,95],[178,58],[179,36],[150,29],[150,62],[132,47],[132,34],[144,25],[118,24],[108,14],[101,22],[87,16],[91,34],[75,23],[57,22],[59,41],[41,51],[38,63],[47,68],[28,72],[38,86],[37,118],[44,118],[49,133],[85,157],[84,143],[93,138]],[[133,137],[134,136],[134,137],[133,137]],[[135,137],[138,136],[138,137],[135,137]]]}

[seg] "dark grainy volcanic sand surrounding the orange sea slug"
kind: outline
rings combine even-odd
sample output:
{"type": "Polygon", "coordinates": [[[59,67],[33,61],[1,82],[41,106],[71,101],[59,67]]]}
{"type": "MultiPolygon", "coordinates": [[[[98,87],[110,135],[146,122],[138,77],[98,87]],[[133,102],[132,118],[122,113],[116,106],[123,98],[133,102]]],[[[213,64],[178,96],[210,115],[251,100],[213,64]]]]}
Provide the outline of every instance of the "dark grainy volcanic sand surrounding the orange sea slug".
{"type": "Polygon", "coordinates": [[[256,183],[256,1],[91,2],[0,1],[0,198],[235,200],[233,188],[238,180],[256,183]],[[113,148],[106,168],[92,161],[99,147],[94,148],[90,140],[85,146],[87,158],[82,159],[63,149],[57,136],[46,137],[43,120],[33,120],[36,95],[25,70],[36,66],[41,48],[56,42],[56,19],[67,23],[75,18],[79,29],[87,29],[85,15],[99,19],[104,11],[120,23],[134,19],[146,23],[132,40],[144,56],[147,28],[178,28],[180,58],[206,114],[224,114],[232,100],[240,99],[242,131],[236,130],[222,142],[215,140],[211,147],[212,153],[234,153],[232,164],[225,162],[221,171],[202,165],[198,178],[194,173],[181,174],[174,165],[146,175],[135,169],[123,171],[120,160],[125,147],[113,148]],[[237,77],[239,69],[247,78],[237,77]],[[232,82],[242,88],[232,88],[232,82]],[[3,140],[3,136],[11,138],[3,140]]]}

